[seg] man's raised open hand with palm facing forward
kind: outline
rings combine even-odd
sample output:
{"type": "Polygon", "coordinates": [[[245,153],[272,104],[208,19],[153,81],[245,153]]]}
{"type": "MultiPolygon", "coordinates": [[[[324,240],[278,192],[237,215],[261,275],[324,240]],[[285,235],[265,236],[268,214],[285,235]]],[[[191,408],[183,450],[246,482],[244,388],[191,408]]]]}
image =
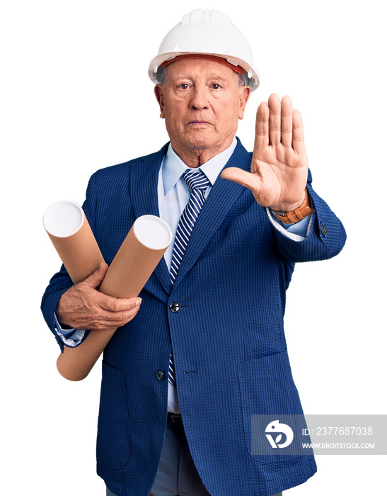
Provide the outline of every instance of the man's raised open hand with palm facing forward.
{"type": "Polygon", "coordinates": [[[289,96],[270,95],[258,107],[251,171],[228,167],[224,179],[249,188],[262,207],[279,212],[298,208],[305,198],[308,159],[301,114],[289,96]]]}

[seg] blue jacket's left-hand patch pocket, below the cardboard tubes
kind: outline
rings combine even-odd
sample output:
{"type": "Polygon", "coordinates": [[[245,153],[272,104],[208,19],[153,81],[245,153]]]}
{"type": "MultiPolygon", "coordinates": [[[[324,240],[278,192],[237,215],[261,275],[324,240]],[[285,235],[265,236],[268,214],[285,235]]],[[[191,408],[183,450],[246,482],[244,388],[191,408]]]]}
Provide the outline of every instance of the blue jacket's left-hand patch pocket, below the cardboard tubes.
{"type": "Polygon", "coordinates": [[[125,372],[103,362],[98,415],[98,464],[117,470],[125,466],[129,456],[129,406],[125,372]]]}

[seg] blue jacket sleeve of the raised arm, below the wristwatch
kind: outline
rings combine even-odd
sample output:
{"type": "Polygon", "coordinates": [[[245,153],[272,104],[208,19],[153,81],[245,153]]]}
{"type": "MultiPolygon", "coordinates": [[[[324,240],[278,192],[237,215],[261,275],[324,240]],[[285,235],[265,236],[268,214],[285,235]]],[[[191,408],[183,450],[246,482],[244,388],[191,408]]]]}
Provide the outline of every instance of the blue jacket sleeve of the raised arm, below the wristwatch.
{"type": "Polygon", "coordinates": [[[310,232],[302,241],[293,241],[275,230],[279,251],[290,262],[326,260],[339,254],[344,247],[345,229],[328,205],[313,190],[308,172],[308,193],[314,205],[310,232]]]}

